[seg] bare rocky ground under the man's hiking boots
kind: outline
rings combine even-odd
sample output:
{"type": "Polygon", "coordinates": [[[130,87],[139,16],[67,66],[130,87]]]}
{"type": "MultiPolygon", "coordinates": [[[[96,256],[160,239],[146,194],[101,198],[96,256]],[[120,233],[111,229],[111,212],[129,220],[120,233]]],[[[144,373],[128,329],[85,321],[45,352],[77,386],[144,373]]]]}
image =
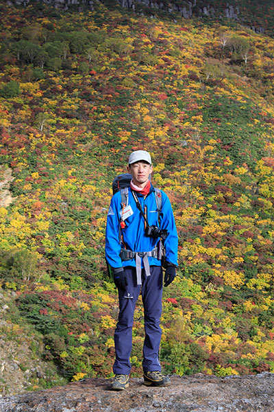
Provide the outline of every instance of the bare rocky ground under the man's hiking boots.
{"type": "Polygon", "coordinates": [[[0,412],[274,412],[274,374],[172,376],[171,386],[109,390],[110,380],[90,378],[65,387],[0,399],[0,412]]]}

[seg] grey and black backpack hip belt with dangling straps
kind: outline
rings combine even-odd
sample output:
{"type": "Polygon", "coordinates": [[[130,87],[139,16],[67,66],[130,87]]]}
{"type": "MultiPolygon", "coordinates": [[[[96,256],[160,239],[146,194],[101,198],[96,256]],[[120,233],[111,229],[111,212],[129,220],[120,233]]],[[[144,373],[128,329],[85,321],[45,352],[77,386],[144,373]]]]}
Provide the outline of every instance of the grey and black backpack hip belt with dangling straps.
{"type": "Polygon", "coordinates": [[[121,260],[126,261],[126,260],[135,259],[136,277],[137,277],[138,285],[142,284],[141,258],[142,258],[142,261],[144,262],[145,274],[147,276],[150,276],[149,260],[148,260],[149,257],[161,259],[162,258],[162,248],[156,246],[152,251],[149,251],[149,252],[134,252],[134,251],[129,251],[129,249],[121,249],[121,252],[120,252],[121,260]]]}

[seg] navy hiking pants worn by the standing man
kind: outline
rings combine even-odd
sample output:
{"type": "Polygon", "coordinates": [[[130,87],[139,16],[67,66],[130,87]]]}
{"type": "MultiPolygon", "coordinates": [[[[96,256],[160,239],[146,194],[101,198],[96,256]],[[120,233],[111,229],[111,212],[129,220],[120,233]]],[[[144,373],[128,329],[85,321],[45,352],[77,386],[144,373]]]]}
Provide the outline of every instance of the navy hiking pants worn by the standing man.
{"type": "Polygon", "coordinates": [[[114,374],[129,375],[131,364],[129,356],[132,352],[132,325],[136,300],[142,293],[142,304],[145,314],[145,341],[143,346],[142,369],[144,371],[161,371],[158,358],[162,330],[160,317],[162,314],[162,267],[150,266],[150,276],[142,270],[142,285],[137,285],[136,268],[125,267],[128,290],[133,299],[124,297],[119,290],[119,320],[114,333],[116,359],[113,366],[114,374]]]}

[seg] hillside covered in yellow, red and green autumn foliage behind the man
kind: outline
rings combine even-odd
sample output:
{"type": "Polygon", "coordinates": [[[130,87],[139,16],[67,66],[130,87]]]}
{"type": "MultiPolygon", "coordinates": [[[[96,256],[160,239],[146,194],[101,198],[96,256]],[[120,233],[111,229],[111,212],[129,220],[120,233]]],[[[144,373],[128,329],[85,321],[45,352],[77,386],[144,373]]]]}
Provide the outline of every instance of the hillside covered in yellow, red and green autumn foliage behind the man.
{"type": "MultiPolygon", "coordinates": [[[[104,261],[111,182],[151,152],[169,195],[179,269],[165,288],[169,374],[274,372],[274,40],[240,25],[117,6],[1,10],[1,287],[42,358],[112,376],[116,288],[104,261]]],[[[142,304],[132,372],[142,373],[142,304]]],[[[40,382],[33,382],[39,387],[40,382]]],[[[45,379],[44,385],[50,385],[45,379]]]]}

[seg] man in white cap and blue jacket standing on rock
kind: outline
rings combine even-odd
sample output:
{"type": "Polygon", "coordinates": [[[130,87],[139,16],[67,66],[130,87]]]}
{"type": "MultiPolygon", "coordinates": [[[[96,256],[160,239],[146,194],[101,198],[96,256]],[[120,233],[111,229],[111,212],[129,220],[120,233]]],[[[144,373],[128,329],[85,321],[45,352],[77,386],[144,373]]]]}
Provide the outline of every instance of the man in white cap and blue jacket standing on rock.
{"type": "Polygon", "coordinates": [[[134,309],[140,291],[145,313],[145,341],[142,369],[147,386],[166,386],[158,359],[162,330],[162,262],[165,249],[164,286],[176,275],[178,238],[169,198],[150,182],[151,156],[136,150],[129,156],[127,171],[132,181],[127,190],[127,204],[121,191],[114,194],[108,211],[105,232],[105,258],[111,267],[119,291],[119,320],[114,333],[116,359],[111,389],[129,385],[134,309]],[[158,198],[161,198],[160,210],[158,198]],[[160,226],[160,227],[159,227],[160,226]]]}

